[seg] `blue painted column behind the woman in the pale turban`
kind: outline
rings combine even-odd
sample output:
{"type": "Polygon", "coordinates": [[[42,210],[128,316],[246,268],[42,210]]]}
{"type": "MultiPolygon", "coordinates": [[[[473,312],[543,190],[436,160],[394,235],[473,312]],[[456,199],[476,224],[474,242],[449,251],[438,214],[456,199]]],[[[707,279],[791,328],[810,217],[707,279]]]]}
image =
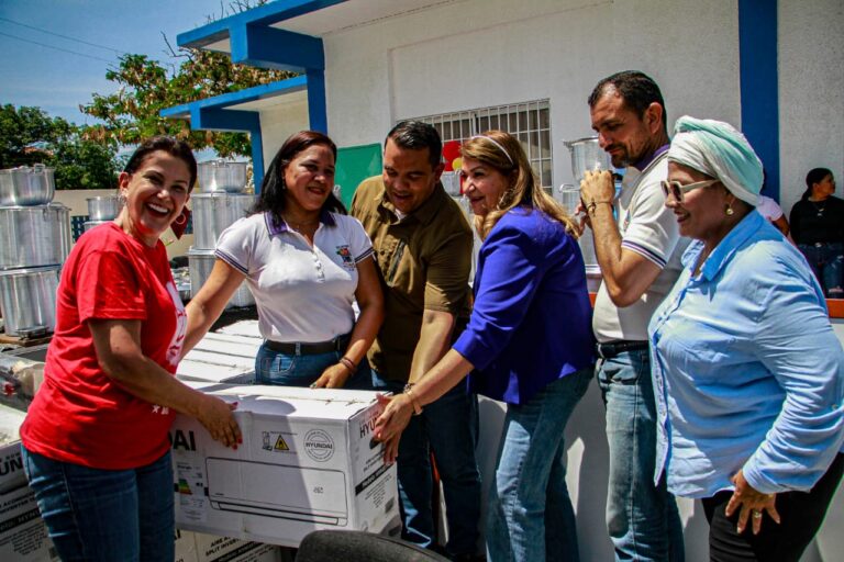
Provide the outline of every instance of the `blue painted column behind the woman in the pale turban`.
{"type": "Polygon", "coordinates": [[[779,201],[777,0],[738,0],[742,132],[765,166],[764,194],[779,201]]]}

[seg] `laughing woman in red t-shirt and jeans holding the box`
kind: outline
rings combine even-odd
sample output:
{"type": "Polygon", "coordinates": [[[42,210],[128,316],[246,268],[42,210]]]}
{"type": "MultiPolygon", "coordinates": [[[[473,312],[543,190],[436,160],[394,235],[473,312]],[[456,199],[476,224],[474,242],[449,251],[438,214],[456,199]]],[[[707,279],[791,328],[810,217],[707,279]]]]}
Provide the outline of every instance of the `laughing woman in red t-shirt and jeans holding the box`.
{"type": "Polygon", "coordinates": [[[21,427],[62,560],[173,560],[176,412],[240,440],[233,406],[174,378],[187,318],[159,237],[196,179],[186,143],[143,143],[119,178],[120,215],[85,233],[62,269],[44,383],[21,427]]]}

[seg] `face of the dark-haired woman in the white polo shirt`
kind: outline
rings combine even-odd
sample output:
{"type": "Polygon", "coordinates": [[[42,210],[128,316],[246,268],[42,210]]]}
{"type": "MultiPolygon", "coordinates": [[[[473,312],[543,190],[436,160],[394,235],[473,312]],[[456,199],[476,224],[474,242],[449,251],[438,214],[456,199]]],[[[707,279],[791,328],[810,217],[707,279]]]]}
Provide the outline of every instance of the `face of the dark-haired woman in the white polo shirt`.
{"type": "Polygon", "coordinates": [[[285,167],[285,203],[298,218],[319,214],[334,188],[334,154],[325,145],[311,145],[285,167]]]}

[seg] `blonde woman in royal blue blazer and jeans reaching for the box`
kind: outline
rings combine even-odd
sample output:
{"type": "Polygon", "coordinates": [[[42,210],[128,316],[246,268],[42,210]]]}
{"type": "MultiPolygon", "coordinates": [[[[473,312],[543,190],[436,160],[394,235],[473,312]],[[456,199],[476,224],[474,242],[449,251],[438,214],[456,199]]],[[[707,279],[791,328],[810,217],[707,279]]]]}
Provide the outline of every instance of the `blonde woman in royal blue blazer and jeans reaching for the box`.
{"type": "Polygon", "coordinates": [[[473,390],[508,403],[489,496],[489,560],[577,560],[563,436],[591,380],[595,349],[577,227],[511,135],[489,131],[460,151],[463,192],[484,239],[471,317],[443,359],[387,405],[375,434],[392,460],[410,416],[474,370],[473,390]]]}

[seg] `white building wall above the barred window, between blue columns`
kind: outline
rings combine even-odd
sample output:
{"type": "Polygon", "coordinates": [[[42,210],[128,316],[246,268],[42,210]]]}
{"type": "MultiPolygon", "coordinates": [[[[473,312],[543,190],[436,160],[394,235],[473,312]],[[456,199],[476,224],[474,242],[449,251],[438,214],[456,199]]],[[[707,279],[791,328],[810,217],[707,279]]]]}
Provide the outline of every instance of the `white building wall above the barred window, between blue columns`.
{"type": "Polygon", "coordinates": [[[467,0],[324,41],[341,146],[379,142],[399,119],[547,98],[559,184],[571,180],[562,142],[591,133],[592,87],[625,68],[659,82],[671,123],[740,120],[733,0],[467,0]]]}

